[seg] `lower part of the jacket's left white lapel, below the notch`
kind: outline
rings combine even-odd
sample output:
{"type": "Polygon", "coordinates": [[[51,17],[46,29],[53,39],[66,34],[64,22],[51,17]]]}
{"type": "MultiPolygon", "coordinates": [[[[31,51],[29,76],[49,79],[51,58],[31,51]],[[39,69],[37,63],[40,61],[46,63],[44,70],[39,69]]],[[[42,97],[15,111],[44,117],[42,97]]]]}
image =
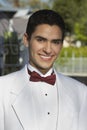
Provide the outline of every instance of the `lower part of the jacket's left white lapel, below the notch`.
{"type": "Polygon", "coordinates": [[[17,96],[15,102],[12,104],[19,123],[24,130],[36,130],[36,119],[33,107],[32,95],[29,86],[24,89],[17,96]]]}

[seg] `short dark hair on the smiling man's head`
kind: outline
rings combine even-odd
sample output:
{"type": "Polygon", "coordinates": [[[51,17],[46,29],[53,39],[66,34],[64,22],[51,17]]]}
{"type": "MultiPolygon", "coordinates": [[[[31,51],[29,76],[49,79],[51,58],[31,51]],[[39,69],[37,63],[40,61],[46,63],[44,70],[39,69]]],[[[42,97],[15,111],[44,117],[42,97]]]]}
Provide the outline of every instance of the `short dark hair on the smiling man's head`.
{"type": "Polygon", "coordinates": [[[65,23],[63,18],[57,12],[48,9],[38,10],[29,17],[26,28],[29,39],[35,28],[41,24],[57,25],[62,31],[62,40],[64,39],[65,23]]]}

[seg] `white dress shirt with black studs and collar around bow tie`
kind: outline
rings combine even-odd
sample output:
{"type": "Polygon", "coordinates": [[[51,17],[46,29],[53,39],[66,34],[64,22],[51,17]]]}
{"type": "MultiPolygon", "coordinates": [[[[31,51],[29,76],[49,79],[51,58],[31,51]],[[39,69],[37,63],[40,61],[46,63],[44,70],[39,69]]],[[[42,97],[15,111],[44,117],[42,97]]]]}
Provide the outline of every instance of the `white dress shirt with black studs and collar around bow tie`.
{"type": "MultiPolygon", "coordinates": [[[[51,68],[45,75],[43,75],[31,65],[28,65],[28,68],[30,71],[38,72],[43,77],[50,75],[53,71],[51,68]]],[[[30,81],[29,87],[30,86],[38,130],[56,130],[58,122],[58,91],[56,84],[50,85],[45,82],[30,81]],[[41,112],[41,115],[38,114],[38,112],[41,112]],[[40,116],[38,117],[38,115],[40,116]]]]}

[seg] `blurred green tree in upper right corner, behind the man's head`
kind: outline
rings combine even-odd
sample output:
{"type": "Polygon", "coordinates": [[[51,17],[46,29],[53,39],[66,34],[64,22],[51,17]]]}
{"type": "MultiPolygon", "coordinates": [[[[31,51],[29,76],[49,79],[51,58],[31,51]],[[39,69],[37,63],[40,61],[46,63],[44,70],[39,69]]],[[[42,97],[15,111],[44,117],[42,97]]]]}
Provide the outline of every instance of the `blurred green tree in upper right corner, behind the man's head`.
{"type": "Polygon", "coordinates": [[[59,12],[64,18],[67,32],[76,35],[79,33],[78,39],[87,41],[87,29],[85,28],[87,25],[86,0],[54,0],[52,9],[59,12]],[[82,38],[83,36],[85,38],[82,38]]]}

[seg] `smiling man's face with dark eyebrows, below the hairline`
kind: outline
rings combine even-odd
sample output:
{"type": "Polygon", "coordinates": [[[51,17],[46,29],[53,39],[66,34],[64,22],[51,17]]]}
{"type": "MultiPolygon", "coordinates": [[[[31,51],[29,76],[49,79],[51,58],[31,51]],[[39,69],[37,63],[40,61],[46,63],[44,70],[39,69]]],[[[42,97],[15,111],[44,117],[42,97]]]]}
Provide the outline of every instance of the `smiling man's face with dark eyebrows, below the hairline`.
{"type": "Polygon", "coordinates": [[[38,25],[28,41],[29,63],[45,74],[62,48],[62,32],[57,25],[38,25]]]}

